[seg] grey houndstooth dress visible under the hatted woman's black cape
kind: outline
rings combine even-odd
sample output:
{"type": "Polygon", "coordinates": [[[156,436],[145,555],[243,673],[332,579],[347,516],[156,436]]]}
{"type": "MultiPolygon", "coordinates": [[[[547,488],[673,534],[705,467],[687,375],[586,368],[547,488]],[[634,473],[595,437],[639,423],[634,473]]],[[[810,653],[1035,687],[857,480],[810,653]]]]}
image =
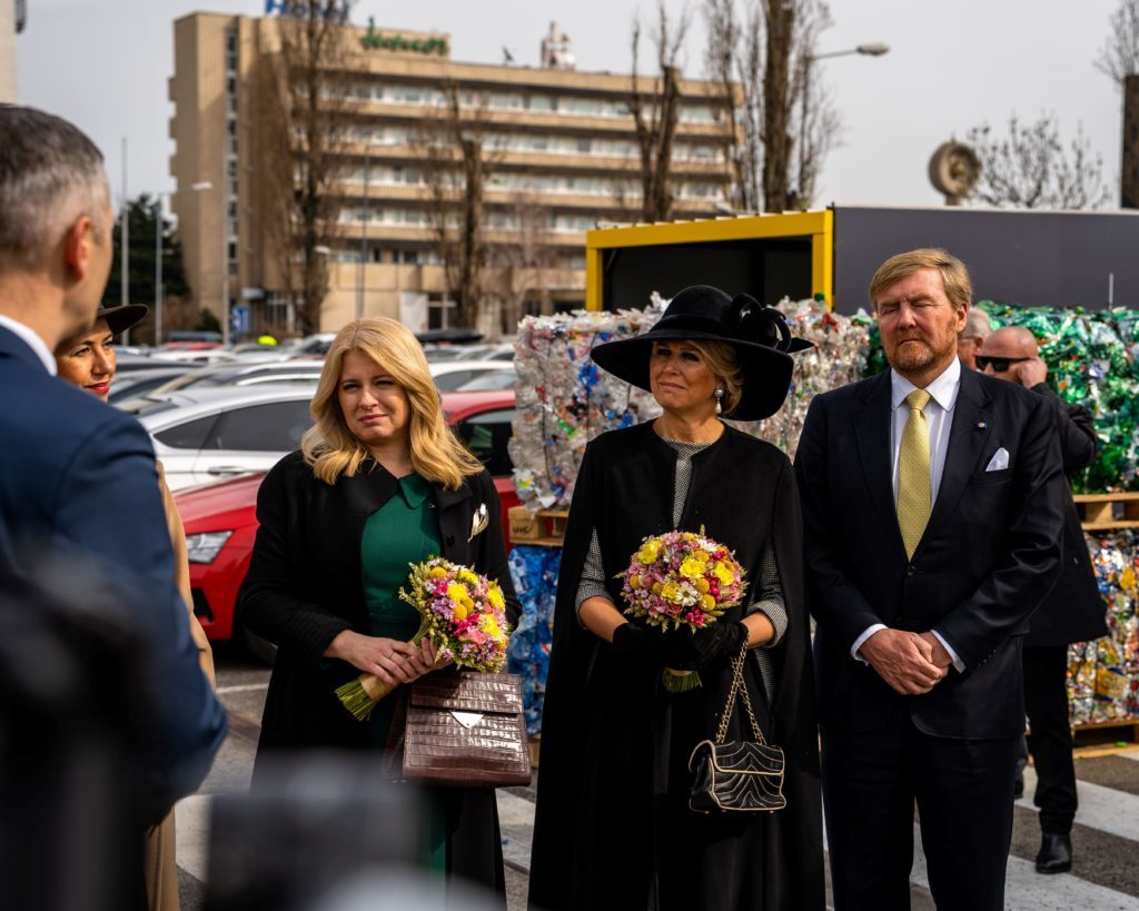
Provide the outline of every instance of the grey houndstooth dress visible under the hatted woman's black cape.
{"type": "MultiPolygon", "coordinates": [[[[688,496],[688,485],[693,479],[693,456],[711,444],[685,443],[679,440],[665,440],[664,442],[677,451],[677,475],[672,500],[672,524],[675,527],[680,525],[680,517],[685,511],[685,500],[688,496]]],[[[760,676],[763,680],[763,689],[767,692],[768,701],[771,701],[775,697],[775,671],[769,649],[778,646],[787,632],[787,608],[784,602],[782,583],[779,580],[779,564],[776,560],[775,548],[770,541],[764,548],[763,557],[760,560],[759,584],[751,586],[751,596],[752,600],[747,606],[746,613],[763,612],[768,615],[768,619],[771,621],[771,625],[776,630],[775,639],[762,648],[754,649],[752,653],[760,668],[760,676]]],[[[598,543],[596,528],[591,532],[589,552],[585,555],[581,578],[577,582],[577,608],[580,609],[588,598],[595,597],[609,597],[609,592],[605,588],[605,566],[601,563],[601,545],[598,543]]]]}

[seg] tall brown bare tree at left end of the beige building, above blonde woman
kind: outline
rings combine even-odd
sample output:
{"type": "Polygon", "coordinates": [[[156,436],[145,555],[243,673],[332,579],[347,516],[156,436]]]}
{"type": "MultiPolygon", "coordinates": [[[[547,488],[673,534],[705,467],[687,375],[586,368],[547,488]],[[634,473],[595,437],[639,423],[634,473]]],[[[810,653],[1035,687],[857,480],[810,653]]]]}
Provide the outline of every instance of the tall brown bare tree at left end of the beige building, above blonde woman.
{"type": "Polygon", "coordinates": [[[257,170],[262,218],[300,330],[320,329],[328,249],[342,235],[335,184],[352,170],[350,33],[320,3],[273,20],[278,47],[257,75],[262,124],[257,170]]]}

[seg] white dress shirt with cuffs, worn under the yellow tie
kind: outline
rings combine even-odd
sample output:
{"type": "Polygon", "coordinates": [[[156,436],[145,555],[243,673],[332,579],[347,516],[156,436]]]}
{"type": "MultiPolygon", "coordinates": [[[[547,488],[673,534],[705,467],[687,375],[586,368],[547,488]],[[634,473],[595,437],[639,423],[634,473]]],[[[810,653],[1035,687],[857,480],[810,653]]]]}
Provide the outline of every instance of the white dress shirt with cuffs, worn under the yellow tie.
{"type": "MultiPolygon", "coordinates": [[[[895,371],[890,372],[890,451],[891,451],[891,478],[894,489],[894,503],[898,503],[898,460],[902,451],[902,434],[906,424],[910,419],[910,407],[906,403],[906,396],[917,388],[906,377],[895,371]]],[[[949,432],[953,426],[953,407],[957,404],[957,394],[961,389],[961,362],[953,358],[952,362],[942,374],[926,386],[929,393],[929,401],[923,409],[926,417],[926,425],[929,427],[929,496],[931,506],[937,502],[937,491],[941,487],[941,476],[945,470],[945,456],[949,452],[949,432]]],[[[863,662],[859,649],[878,630],[885,630],[886,624],[875,623],[862,632],[851,646],[851,657],[863,662]]],[[[936,630],[931,630],[939,641],[945,647],[949,656],[953,659],[953,667],[958,672],[965,671],[965,664],[957,656],[953,647],[945,641],[945,638],[936,630]]]]}

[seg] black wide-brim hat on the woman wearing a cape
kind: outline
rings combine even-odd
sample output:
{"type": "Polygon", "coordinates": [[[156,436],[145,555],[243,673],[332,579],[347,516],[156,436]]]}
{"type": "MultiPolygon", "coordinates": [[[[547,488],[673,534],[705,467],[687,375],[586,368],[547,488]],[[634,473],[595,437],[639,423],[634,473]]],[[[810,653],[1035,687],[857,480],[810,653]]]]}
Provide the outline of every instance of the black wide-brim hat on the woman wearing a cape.
{"type": "Polygon", "coordinates": [[[735,420],[762,420],[775,415],[787,399],[794,367],[792,354],[812,347],[795,338],[787,320],[775,307],[747,294],[729,297],[719,288],[693,285],[679,292],[664,315],[644,335],[606,342],[590,352],[593,362],[615,377],[649,389],[648,363],[653,344],[665,339],[723,342],[736,350],[744,375],[743,396],[731,415],[735,420]]]}

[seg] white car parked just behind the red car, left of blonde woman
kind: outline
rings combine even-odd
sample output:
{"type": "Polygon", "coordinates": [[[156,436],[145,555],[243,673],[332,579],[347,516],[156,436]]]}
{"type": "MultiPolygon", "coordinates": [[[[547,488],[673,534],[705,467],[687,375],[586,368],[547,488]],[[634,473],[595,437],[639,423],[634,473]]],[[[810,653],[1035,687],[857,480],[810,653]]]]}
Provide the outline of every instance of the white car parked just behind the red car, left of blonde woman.
{"type": "Polygon", "coordinates": [[[312,426],[312,392],[311,386],[191,388],[141,400],[134,413],[177,491],[268,471],[312,426]]]}

